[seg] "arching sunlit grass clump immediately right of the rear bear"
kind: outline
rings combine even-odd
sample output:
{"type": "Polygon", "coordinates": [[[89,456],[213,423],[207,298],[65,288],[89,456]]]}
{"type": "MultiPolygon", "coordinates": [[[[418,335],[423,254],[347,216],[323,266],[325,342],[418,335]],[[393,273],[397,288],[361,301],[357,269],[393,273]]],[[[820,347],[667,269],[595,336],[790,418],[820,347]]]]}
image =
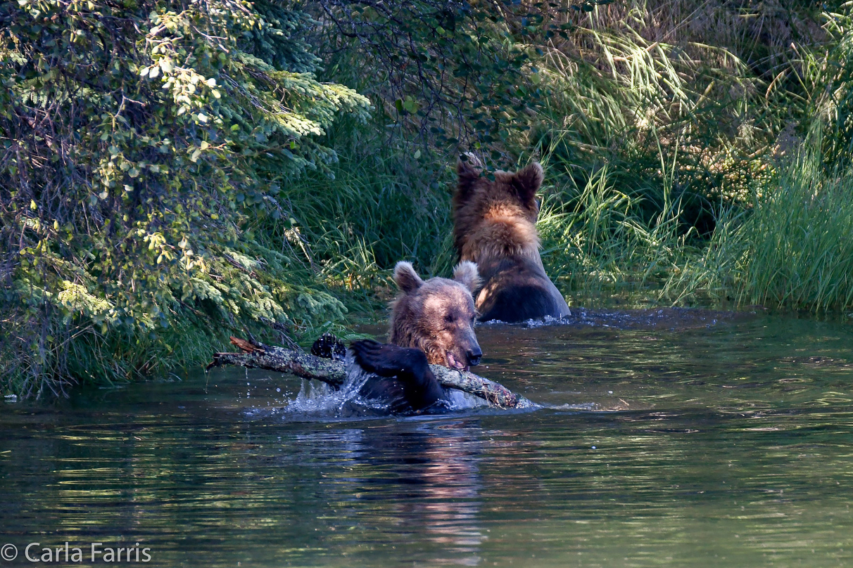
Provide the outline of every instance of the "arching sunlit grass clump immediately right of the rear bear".
{"type": "Polygon", "coordinates": [[[564,181],[545,191],[538,224],[543,262],[576,303],[611,295],[642,304],[669,301],[668,279],[700,255],[701,241],[680,227],[680,200],[667,200],[646,221],[640,198],[618,189],[606,167],[581,187],[564,181]]]}

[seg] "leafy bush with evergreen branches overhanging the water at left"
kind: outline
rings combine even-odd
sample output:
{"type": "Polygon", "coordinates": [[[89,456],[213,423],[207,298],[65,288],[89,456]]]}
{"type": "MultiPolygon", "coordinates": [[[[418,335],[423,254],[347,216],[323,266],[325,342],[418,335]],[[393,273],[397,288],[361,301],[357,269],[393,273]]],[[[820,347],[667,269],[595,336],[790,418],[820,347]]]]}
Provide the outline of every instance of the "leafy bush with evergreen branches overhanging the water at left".
{"type": "Polygon", "coordinates": [[[197,362],[229,330],[343,305],[294,250],[287,186],[369,103],[320,83],[286,4],[0,6],[0,389],[61,392],[197,362]],[[289,245],[288,245],[289,244],[289,245]]]}

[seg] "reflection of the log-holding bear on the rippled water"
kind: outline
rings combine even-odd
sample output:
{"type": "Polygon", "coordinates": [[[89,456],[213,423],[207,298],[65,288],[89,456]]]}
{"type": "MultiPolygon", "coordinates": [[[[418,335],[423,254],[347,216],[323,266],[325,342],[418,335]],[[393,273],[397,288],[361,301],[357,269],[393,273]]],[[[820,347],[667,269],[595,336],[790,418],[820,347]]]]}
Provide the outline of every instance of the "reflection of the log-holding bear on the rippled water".
{"type": "Polygon", "coordinates": [[[479,464],[485,449],[500,444],[491,438],[505,439],[501,431],[444,416],[305,428],[281,466],[300,479],[299,494],[316,500],[325,525],[357,525],[358,542],[376,549],[393,542],[406,559],[477,564],[486,539],[479,464]]]}

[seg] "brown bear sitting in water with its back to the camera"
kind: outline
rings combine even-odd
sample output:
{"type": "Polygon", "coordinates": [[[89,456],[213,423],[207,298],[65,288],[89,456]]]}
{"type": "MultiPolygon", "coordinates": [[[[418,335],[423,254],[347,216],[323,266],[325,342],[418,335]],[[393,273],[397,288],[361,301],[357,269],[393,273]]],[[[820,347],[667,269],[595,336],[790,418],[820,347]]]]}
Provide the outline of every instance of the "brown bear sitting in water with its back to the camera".
{"type": "Polygon", "coordinates": [[[476,301],[480,320],[570,315],[539,256],[536,194],[542,166],[534,162],[515,173],[496,171],[490,180],[476,158],[464,158],[456,166],[453,237],[460,260],[476,262],[483,278],[476,301]]]}

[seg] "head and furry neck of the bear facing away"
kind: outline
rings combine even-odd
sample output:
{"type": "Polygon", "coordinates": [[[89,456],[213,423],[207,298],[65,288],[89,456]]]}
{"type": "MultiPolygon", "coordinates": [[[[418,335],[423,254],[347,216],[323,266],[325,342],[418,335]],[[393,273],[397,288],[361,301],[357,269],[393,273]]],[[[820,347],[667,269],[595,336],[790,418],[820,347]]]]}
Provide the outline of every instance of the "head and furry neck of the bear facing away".
{"type": "Polygon", "coordinates": [[[453,196],[453,236],[460,259],[537,256],[542,166],[533,162],[516,172],[496,171],[491,180],[477,158],[463,158],[456,165],[459,185],[453,196]]]}

